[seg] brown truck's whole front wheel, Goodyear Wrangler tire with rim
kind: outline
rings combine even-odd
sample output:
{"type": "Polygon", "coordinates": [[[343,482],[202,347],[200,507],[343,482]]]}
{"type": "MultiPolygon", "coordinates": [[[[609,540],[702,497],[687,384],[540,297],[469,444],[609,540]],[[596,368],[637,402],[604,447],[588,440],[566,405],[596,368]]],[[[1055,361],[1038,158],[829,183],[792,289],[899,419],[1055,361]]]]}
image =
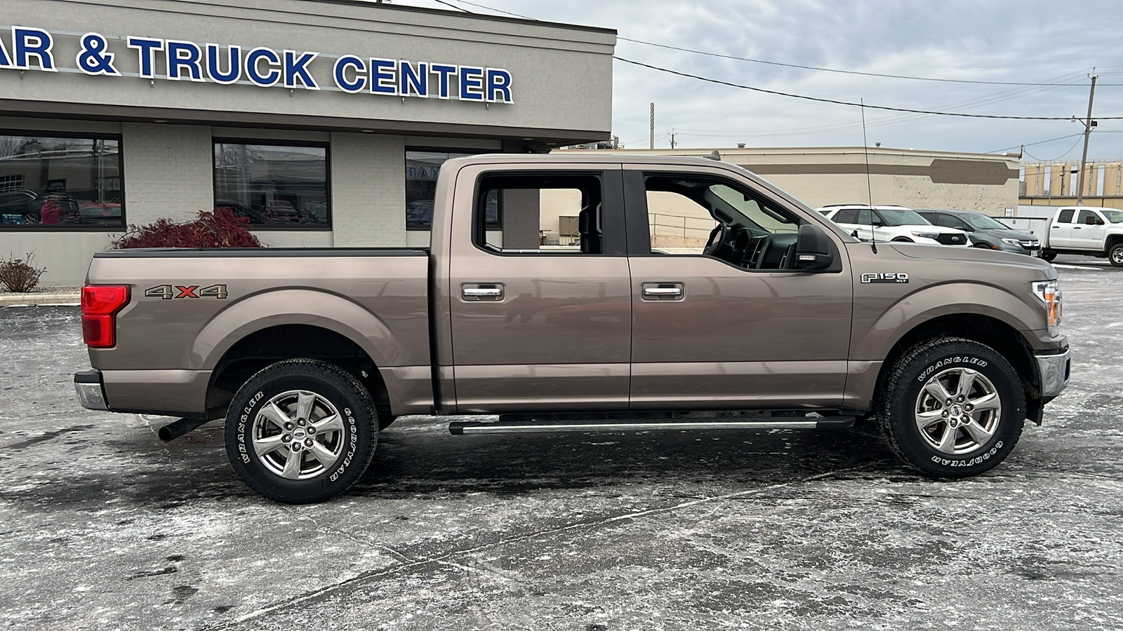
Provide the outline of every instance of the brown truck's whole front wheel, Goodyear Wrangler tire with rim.
{"type": "Polygon", "coordinates": [[[940,338],[913,347],[893,365],[877,417],[889,448],[907,465],[930,476],[967,477],[989,470],[1014,449],[1025,393],[993,348],[940,338]]]}

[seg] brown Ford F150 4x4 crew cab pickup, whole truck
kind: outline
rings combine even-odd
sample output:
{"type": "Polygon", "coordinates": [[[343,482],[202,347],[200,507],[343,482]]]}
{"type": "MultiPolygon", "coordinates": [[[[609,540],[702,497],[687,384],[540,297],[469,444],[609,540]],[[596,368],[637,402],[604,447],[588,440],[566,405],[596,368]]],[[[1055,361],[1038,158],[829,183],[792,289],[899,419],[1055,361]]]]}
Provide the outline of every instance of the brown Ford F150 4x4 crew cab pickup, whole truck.
{"type": "Polygon", "coordinates": [[[453,433],[840,428],[967,476],[1067,385],[1057,273],[851,238],[703,158],[491,155],[440,170],[429,248],[99,253],[92,410],[226,419],[281,502],[350,486],[404,414],[453,433]]]}

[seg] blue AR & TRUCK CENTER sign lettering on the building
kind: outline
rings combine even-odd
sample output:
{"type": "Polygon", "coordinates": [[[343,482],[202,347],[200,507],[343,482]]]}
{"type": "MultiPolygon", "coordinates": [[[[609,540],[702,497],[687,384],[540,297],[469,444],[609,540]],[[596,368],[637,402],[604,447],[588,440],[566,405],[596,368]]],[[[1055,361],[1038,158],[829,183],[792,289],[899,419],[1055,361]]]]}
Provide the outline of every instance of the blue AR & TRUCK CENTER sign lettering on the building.
{"type": "MultiPolygon", "coordinates": [[[[281,85],[290,90],[340,90],[348,93],[384,94],[513,103],[511,73],[503,68],[437,62],[409,62],[357,55],[321,55],[312,52],[276,51],[264,46],[206,44],[182,39],[127,36],[125,51],[110,51],[109,40],[98,33],[80,37],[74,56],[76,71],[88,75],[139,76],[148,80],[195,81],[259,88],[281,85]],[[136,58],[138,72],[118,70],[118,54],[136,58]],[[318,57],[331,64],[334,85],[320,85],[310,67],[318,57]],[[334,60],[329,62],[328,60],[334,60]],[[164,73],[157,74],[163,65],[164,73]]],[[[12,27],[11,46],[0,37],[0,68],[45,72],[75,72],[60,68],[54,35],[31,27],[12,27]]]]}

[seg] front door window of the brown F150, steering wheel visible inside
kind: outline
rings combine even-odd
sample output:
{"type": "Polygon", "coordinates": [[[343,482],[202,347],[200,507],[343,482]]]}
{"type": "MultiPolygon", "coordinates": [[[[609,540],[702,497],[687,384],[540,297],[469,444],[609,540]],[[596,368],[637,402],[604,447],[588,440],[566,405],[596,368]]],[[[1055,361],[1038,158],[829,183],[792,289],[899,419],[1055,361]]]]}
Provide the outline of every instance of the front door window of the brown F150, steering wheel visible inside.
{"type": "Polygon", "coordinates": [[[648,174],[645,182],[652,254],[711,256],[747,269],[775,269],[795,244],[800,220],[739,184],[674,174],[648,174]],[[766,255],[768,264],[760,258],[766,255]]]}

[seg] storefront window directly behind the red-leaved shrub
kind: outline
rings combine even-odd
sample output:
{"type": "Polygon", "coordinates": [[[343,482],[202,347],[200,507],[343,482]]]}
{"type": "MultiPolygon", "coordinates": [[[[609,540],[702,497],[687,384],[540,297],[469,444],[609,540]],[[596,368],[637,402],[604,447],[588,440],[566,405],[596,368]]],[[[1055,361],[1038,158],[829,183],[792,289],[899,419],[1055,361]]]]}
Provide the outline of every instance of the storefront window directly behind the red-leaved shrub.
{"type": "Polygon", "coordinates": [[[327,229],[328,148],[214,143],[214,208],[229,208],[249,228],[327,229]]]}

